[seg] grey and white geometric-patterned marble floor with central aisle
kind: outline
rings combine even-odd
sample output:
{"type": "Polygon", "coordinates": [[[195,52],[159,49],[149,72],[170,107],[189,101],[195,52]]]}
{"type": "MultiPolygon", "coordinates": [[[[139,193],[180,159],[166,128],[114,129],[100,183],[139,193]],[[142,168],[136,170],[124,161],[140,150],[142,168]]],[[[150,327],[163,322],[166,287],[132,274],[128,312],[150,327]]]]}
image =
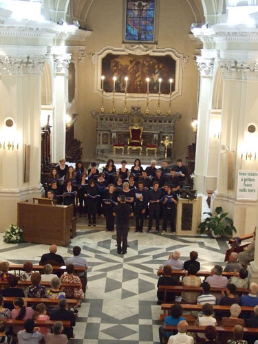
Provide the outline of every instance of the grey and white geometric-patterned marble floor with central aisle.
{"type": "MultiPolygon", "coordinates": [[[[104,224],[85,226],[80,219],[76,237],[67,247],[58,247],[64,258],[72,247],[80,246],[89,263],[86,299],[79,310],[72,344],[156,344],[160,325],[160,305],[156,303],[156,270],[169,252],[180,250],[182,261],[191,250],[199,252],[202,270],[224,263],[228,244],[205,235],[171,236],[129,232],[127,255],[116,252],[116,233],[107,233],[104,224]]],[[[4,244],[0,237],[0,259],[21,264],[38,263],[47,245],[4,244]]]]}

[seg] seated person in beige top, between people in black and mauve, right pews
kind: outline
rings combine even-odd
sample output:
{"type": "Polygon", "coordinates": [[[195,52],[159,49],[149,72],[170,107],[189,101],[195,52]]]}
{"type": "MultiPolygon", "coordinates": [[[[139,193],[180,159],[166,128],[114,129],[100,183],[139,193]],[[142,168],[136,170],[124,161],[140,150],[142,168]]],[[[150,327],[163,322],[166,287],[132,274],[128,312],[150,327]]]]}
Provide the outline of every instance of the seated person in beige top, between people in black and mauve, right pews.
{"type": "MultiPolygon", "coordinates": [[[[190,265],[188,268],[188,276],[182,279],[182,286],[187,287],[200,287],[202,281],[200,277],[196,276],[197,268],[194,265],[190,265]]],[[[182,292],[182,299],[187,303],[196,303],[197,297],[200,294],[198,292],[182,292]]]]}

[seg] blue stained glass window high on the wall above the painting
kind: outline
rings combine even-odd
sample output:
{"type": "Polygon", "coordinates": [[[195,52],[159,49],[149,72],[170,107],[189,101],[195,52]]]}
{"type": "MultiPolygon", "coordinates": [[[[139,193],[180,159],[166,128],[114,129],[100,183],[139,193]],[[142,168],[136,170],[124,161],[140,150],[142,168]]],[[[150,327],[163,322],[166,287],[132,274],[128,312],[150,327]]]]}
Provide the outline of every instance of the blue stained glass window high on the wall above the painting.
{"type": "Polygon", "coordinates": [[[154,41],[155,0],[127,0],[125,41],[154,41]]]}

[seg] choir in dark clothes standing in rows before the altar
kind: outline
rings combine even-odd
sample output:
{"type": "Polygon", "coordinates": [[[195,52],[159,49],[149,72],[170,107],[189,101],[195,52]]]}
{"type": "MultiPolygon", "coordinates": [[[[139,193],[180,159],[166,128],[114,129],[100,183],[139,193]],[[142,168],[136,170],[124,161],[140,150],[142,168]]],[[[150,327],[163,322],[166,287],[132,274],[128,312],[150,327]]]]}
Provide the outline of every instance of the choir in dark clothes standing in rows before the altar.
{"type": "Polygon", "coordinates": [[[61,159],[47,179],[47,198],[57,204],[73,204],[74,216],[78,209],[80,217],[88,217],[88,226],[96,226],[97,215],[105,217],[106,230],[113,231],[114,207],[120,203],[120,196],[125,195],[135,215],[136,232],[142,233],[144,218],[149,217],[148,233],[153,219],[156,232],[160,233],[162,219],[162,233],[166,232],[168,222],[174,233],[178,193],[186,185],[188,171],[181,159],[172,168],[166,161],[160,169],[155,164],[151,160],[144,170],[140,159],[136,159],[129,171],[125,160],[116,169],[114,160],[109,159],[100,173],[95,162],[87,170],[82,161],[77,161],[74,169],[61,159]]]}

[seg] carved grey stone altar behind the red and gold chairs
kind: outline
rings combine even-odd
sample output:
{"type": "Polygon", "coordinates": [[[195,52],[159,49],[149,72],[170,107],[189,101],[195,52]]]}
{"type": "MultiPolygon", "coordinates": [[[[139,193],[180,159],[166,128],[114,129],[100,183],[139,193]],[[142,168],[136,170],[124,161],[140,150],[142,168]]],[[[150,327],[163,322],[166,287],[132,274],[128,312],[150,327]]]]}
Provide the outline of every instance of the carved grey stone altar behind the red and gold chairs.
{"type": "Polygon", "coordinates": [[[147,156],[147,144],[155,145],[157,147],[156,155],[149,153],[150,157],[154,157],[158,162],[164,159],[164,145],[162,140],[168,137],[171,144],[168,148],[167,160],[173,159],[173,138],[175,133],[175,122],[180,120],[181,114],[171,115],[157,115],[157,114],[142,114],[140,107],[131,107],[129,114],[105,114],[100,111],[91,111],[92,117],[96,120],[97,126],[97,144],[95,156],[100,161],[114,158],[114,144],[122,144],[124,149],[120,151],[116,157],[126,155],[128,158],[136,156],[139,153],[128,154],[127,141],[130,137],[129,127],[137,124],[142,127],[142,160],[147,156]]]}

